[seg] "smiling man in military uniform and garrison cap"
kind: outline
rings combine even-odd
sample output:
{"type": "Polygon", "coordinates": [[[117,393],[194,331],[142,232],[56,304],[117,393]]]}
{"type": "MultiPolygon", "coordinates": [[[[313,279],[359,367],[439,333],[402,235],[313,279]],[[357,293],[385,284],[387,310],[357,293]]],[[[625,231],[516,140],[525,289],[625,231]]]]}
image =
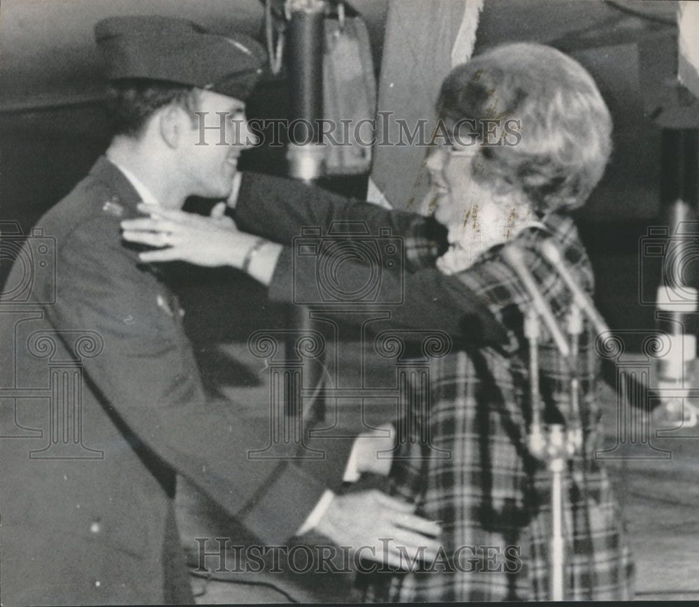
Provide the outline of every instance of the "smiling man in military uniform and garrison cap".
{"type": "MultiPolygon", "coordinates": [[[[173,513],[176,474],[278,545],[325,516],[343,470],[328,465],[319,478],[289,460],[248,456],[266,446],[269,421],[254,425],[236,417],[235,404],[206,400],[178,301],[120,233],[140,202],[178,208],[187,196],[231,194],[238,156],[254,141],[245,98],[264,52],[247,36],[167,17],[110,17],[97,24],[96,40],[115,136],[38,223],[55,242],[55,283],[51,272],[30,272],[27,298],[10,293],[0,302],[8,606],[191,604],[173,513]],[[238,145],[215,145],[218,132],[202,145],[194,112],[237,119],[229,140],[238,145]]],[[[27,271],[15,263],[7,284],[24,284],[27,271]]],[[[352,499],[352,507],[332,503],[355,531],[391,514],[412,531],[438,529],[387,496],[380,504],[352,499]]]]}

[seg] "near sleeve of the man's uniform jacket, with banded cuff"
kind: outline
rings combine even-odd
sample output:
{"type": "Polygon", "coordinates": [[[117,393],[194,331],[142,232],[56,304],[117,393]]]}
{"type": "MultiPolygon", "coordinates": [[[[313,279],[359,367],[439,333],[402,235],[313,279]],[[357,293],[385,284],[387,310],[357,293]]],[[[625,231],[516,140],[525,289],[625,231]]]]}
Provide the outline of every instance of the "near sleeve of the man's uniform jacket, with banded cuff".
{"type": "Polygon", "coordinates": [[[263,541],[293,535],[324,483],[289,460],[250,454],[268,446],[269,419],[241,420],[235,404],[206,401],[179,308],[120,244],[118,224],[88,221],[60,244],[59,297],[47,314],[61,330],[101,336],[103,351],[84,369],[115,424],[263,541]]]}

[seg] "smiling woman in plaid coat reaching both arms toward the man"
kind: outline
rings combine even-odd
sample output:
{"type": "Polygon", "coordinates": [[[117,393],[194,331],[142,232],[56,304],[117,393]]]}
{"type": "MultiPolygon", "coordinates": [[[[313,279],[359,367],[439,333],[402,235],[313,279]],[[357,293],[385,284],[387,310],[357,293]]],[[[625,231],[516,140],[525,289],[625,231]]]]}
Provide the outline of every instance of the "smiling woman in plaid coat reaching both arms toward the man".
{"type": "MultiPolygon", "coordinates": [[[[317,281],[315,272],[306,275],[293,263],[289,245],[302,226],[327,233],[333,221],[361,219],[372,233],[389,226],[403,235],[409,273],[382,275],[384,291],[391,281],[405,287],[405,302],[391,310],[391,323],[446,331],[452,349],[431,363],[428,415],[407,420],[416,440],[401,442],[394,454],[390,490],[415,504],[417,514],[440,521],[442,550],[412,571],[382,568],[363,576],[367,599],[546,600],[550,481],[528,442],[533,404],[524,314],[531,297],[503,251],[522,251],[565,330],[572,294],[545,261],[542,243],[552,240],[579,286],[592,293],[591,265],[566,213],[584,204],[604,172],[611,119],[577,62],[528,43],[496,47],[454,68],[437,109],[440,130],[427,163],[434,185],[430,206],[439,224],[244,175],[238,228],[280,244],[161,211],[161,219],[129,222],[125,237],[161,244],[157,233],[166,231],[175,244],[141,254],[144,261],[242,267],[268,284],[273,298],[289,300],[294,288],[310,290],[317,281]]],[[[343,264],[343,276],[352,277],[353,263],[343,264]]],[[[366,267],[356,275],[366,276],[366,267]]],[[[594,458],[600,418],[594,337],[586,328],[576,363],[582,445],[565,470],[565,597],[627,599],[632,568],[619,509],[594,458]]],[[[568,368],[545,331],[541,342],[545,422],[575,425],[568,368]]]]}

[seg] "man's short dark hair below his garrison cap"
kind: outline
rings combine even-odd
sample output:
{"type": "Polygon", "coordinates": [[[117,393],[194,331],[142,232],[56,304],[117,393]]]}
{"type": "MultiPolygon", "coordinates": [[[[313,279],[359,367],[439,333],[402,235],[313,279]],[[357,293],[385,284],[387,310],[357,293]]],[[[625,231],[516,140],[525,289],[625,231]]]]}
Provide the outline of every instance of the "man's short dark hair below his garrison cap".
{"type": "Polygon", "coordinates": [[[175,82],[124,78],[110,82],[106,91],[106,115],[113,135],[138,137],[153,113],[166,105],[196,111],[196,89],[175,82]]]}

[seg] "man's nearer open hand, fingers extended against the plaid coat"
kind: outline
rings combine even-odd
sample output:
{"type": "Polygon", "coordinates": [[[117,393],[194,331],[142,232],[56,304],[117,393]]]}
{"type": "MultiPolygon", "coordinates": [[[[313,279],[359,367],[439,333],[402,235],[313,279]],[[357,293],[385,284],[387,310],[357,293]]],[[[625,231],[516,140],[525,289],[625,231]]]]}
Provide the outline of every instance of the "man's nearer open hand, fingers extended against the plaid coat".
{"type": "Polygon", "coordinates": [[[430,562],[440,543],[437,523],[413,514],[415,506],[378,490],[336,495],[315,530],[368,560],[400,569],[430,562]]]}

